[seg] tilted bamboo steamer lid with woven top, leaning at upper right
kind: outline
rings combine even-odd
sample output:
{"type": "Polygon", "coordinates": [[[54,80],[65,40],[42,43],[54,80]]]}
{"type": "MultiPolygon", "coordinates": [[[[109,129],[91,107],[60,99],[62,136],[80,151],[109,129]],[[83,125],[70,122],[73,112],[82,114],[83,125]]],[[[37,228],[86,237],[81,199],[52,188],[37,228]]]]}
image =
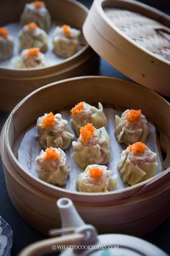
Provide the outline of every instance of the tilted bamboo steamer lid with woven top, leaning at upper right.
{"type": "Polygon", "coordinates": [[[170,17],[133,0],[94,0],[84,22],[89,45],[140,85],[170,96],[170,17]]]}

